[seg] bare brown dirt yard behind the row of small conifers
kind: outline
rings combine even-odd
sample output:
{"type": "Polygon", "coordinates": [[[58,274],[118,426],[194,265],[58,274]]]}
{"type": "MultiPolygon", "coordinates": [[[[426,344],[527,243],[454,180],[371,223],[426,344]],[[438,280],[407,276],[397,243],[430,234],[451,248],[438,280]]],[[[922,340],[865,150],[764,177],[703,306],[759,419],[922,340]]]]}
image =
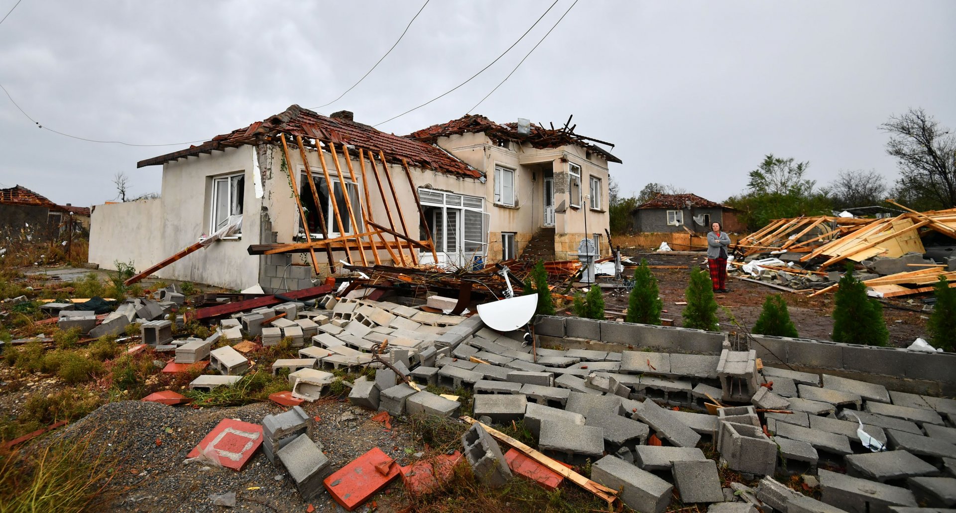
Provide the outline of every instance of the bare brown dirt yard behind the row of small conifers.
{"type": "MultiPolygon", "coordinates": [[[[657,266],[695,266],[701,265],[703,256],[687,254],[667,255],[662,253],[639,253],[623,251],[635,262],[641,258],[647,259],[649,265],[657,266]]],[[[658,279],[658,288],[666,312],[664,318],[674,319],[674,326],[682,326],[681,313],[684,306],[677,305],[684,302],[684,289],[687,287],[690,270],[687,269],[652,269],[658,279]]],[[[633,267],[625,268],[628,277],[633,276],[633,267]]],[[[728,293],[717,294],[717,303],[730,311],[738,323],[748,330],[753,327],[760,316],[764,300],[770,294],[782,293],[787,300],[790,317],[800,336],[830,340],[833,335],[833,294],[827,293],[809,297],[806,293],[786,292],[728,276],[728,293]]],[[[608,309],[623,310],[627,308],[625,292],[617,291],[605,294],[605,305],[608,309]],[[612,306],[613,305],[613,306],[612,306]]],[[[906,347],[917,337],[926,338],[925,325],[928,313],[920,311],[923,304],[918,300],[888,299],[884,301],[883,318],[886,319],[886,328],[890,331],[890,344],[896,347],[906,347]],[[895,307],[895,308],[894,308],[895,307]],[[901,310],[905,309],[905,310],[901,310]],[[917,310],[917,311],[912,311],[917,310]]],[[[736,331],[726,311],[719,310],[722,331],[736,331]]]]}

